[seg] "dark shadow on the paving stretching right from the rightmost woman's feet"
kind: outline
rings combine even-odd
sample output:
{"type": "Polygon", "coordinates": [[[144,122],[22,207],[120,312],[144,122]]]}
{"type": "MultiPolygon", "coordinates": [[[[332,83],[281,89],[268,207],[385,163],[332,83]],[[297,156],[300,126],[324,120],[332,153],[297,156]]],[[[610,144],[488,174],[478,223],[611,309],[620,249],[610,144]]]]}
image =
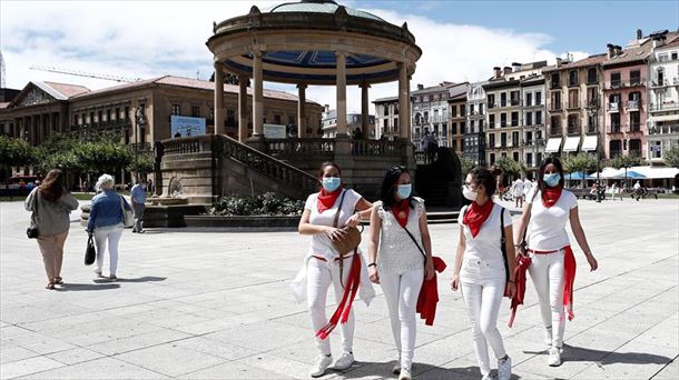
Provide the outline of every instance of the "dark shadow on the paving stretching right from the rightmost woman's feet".
{"type": "MultiPolygon", "coordinates": [[[[547,351],[523,351],[523,353],[543,353],[547,351]]],[[[564,362],[567,361],[591,361],[600,366],[614,363],[626,364],[667,364],[672,361],[672,358],[652,354],[647,352],[617,352],[588,349],[583,347],[574,347],[563,344],[563,353],[561,356],[564,362]]]]}

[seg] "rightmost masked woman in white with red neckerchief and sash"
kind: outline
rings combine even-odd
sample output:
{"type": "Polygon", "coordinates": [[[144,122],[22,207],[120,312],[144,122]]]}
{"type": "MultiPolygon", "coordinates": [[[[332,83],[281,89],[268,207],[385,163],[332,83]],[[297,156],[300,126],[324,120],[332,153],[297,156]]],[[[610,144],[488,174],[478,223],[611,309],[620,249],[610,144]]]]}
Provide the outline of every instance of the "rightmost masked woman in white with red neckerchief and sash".
{"type": "Polygon", "coordinates": [[[528,248],[523,253],[531,258],[529,273],[538,292],[540,314],[545,328],[544,340],[550,346],[548,364],[552,367],[561,364],[564,306],[568,308],[568,318],[573,318],[575,260],[565,232],[568,220],[591,270],[598,268],[580,224],[578,199],[572,192],[563,190],[563,168],[558,158],[548,157],[542,160],[538,186],[528,194],[516,229],[516,247],[523,249],[525,241],[528,248]]]}

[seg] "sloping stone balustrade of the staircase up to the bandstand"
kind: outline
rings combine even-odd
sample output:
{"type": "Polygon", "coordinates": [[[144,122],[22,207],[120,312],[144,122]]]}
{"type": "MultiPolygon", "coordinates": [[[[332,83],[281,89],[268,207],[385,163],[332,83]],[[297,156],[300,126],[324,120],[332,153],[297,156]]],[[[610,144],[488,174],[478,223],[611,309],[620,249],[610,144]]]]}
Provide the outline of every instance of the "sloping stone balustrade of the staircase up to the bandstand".
{"type": "Polygon", "coordinates": [[[318,180],[303,170],[240,143],[227,136],[218,136],[217,142],[222,143],[225,156],[238,160],[248,168],[272,177],[281,183],[296,187],[307,192],[318,190],[318,180]]]}

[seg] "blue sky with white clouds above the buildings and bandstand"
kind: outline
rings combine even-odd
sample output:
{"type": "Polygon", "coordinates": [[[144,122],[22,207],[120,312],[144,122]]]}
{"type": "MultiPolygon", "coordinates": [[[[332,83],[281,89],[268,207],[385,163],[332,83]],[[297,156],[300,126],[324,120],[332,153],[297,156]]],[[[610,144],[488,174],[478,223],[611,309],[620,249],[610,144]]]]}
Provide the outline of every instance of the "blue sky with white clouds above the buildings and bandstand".
{"type": "MultiPolygon", "coordinates": [[[[265,9],[283,1],[0,1],[0,51],[6,82],[77,83],[90,89],[116,82],[39,70],[69,70],[148,79],[164,74],[208,79],[213,56],[205,46],[213,21],[265,9]]],[[[679,1],[405,1],[347,0],[388,22],[404,21],[423,54],[412,87],[442,81],[488,79],[494,66],[574,59],[627,44],[643,34],[679,28],[679,1]]],[[[293,86],[265,88],[296,92],[293,86]]],[[[376,84],[370,98],[396,96],[397,83],[376,84]]],[[[334,87],[309,87],[307,99],[335,101],[334,87]]],[[[361,109],[361,92],[347,89],[350,111],[361,109]]]]}

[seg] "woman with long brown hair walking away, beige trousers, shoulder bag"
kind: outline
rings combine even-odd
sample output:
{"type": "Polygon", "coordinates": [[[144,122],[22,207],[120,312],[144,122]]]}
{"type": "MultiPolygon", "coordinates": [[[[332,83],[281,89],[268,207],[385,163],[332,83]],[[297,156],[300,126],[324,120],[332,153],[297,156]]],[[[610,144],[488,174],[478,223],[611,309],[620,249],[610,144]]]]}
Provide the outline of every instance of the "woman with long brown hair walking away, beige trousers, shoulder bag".
{"type": "Polygon", "coordinates": [[[32,211],[33,227],[38,228],[38,247],[48,280],[45,288],[55,289],[55,284],[63,282],[61,263],[70,227],[68,216],[78,208],[78,201],[66,189],[63,172],[51,170],[42,184],[28,194],[24,207],[27,211],[32,211]]]}

